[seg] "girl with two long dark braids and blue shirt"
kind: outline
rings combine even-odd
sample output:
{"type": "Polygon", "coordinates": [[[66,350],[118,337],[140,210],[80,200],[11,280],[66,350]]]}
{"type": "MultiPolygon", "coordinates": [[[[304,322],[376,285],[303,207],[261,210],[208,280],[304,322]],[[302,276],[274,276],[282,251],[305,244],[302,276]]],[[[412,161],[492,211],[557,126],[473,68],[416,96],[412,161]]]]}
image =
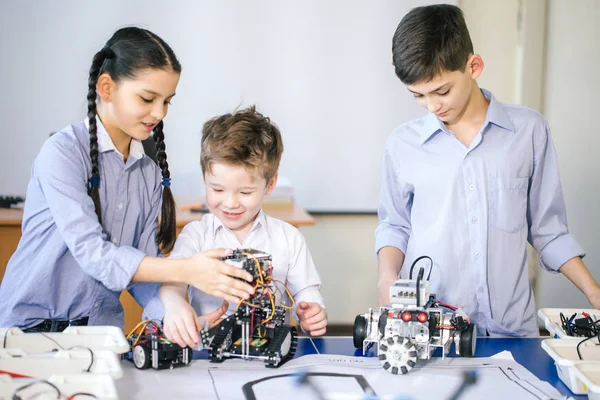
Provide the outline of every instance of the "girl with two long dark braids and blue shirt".
{"type": "Polygon", "coordinates": [[[0,286],[0,326],[122,327],[121,291],[145,307],[158,282],[232,302],[254,291],[241,280],[250,274],[216,259],[225,250],[160,257],[175,240],[163,119],[180,72],[167,43],[134,27],[94,55],[86,120],[52,135],[34,162],[21,241],[0,286]],[[158,167],[141,143],[151,133],[158,167]]]}

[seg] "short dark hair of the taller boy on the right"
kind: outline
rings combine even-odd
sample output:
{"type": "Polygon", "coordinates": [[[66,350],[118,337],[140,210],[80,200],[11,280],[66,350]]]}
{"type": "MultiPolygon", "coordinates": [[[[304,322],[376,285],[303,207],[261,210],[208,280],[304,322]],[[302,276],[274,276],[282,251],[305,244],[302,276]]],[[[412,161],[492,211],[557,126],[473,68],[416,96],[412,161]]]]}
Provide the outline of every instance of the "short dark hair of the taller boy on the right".
{"type": "Polygon", "coordinates": [[[444,71],[464,71],[473,43],[460,8],[438,4],[412,9],[392,40],[396,75],[410,85],[444,71]]]}

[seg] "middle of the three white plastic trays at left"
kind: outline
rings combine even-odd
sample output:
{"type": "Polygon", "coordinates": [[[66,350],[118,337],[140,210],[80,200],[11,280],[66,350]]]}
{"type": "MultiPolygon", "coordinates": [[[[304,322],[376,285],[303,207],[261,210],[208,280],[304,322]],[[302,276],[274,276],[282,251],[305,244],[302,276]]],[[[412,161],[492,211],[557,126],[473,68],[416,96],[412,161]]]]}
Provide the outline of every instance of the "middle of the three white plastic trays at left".
{"type": "Polygon", "coordinates": [[[123,376],[116,354],[107,350],[59,350],[47,353],[26,353],[20,349],[0,350],[0,370],[25,377],[48,379],[52,375],[108,374],[113,379],[123,376]]]}

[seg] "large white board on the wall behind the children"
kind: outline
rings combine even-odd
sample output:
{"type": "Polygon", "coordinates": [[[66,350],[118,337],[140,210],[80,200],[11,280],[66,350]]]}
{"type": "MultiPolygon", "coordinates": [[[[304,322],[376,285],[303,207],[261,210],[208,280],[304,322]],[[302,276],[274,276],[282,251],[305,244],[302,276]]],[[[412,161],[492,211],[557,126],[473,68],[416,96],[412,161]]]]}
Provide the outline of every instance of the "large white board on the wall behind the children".
{"type": "Polygon", "coordinates": [[[394,75],[392,36],[409,9],[429,3],[2,2],[0,194],[25,193],[48,134],[85,118],[93,54],[116,29],[137,25],[165,39],[183,66],[165,119],[176,196],[203,193],[202,124],[256,104],[281,128],[280,174],[297,203],[375,211],[387,137],[425,113],[394,75]]]}

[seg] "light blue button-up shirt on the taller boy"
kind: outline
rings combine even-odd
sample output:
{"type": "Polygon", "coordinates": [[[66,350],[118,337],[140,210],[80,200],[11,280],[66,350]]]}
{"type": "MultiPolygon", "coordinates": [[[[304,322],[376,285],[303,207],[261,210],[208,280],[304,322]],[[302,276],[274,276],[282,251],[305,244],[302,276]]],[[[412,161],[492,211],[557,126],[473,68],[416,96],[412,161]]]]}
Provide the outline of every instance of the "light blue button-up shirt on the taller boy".
{"type": "Polygon", "coordinates": [[[527,241],[552,272],[583,250],[567,228],[546,121],[482,92],[486,121],[468,148],[431,113],[391,134],[376,250],[405,254],[402,278],[430,256],[432,293],[462,308],[480,334],[538,336],[527,241]]]}

